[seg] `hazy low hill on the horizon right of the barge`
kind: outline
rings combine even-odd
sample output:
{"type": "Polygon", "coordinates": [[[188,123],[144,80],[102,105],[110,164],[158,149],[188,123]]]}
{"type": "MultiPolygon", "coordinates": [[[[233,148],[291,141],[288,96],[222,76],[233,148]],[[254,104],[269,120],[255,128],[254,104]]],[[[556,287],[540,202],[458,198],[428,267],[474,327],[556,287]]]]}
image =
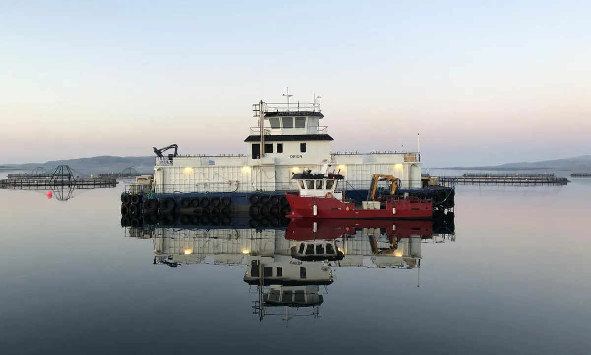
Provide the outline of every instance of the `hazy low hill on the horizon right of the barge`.
{"type": "Polygon", "coordinates": [[[573,172],[590,172],[591,155],[566,159],[543,160],[541,162],[507,163],[496,166],[442,167],[439,169],[453,170],[570,170],[573,172]]]}

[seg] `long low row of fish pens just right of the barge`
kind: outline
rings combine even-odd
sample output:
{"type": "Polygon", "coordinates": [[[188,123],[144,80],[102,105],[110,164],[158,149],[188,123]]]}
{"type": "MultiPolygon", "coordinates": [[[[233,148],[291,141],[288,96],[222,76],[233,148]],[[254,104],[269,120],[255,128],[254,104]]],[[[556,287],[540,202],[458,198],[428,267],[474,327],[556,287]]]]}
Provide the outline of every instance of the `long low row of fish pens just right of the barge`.
{"type": "Polygon", "coordinates": [[[570,182],[554,174],[473,174],[439,176],[444,185],[566,185],[570,182]]]}

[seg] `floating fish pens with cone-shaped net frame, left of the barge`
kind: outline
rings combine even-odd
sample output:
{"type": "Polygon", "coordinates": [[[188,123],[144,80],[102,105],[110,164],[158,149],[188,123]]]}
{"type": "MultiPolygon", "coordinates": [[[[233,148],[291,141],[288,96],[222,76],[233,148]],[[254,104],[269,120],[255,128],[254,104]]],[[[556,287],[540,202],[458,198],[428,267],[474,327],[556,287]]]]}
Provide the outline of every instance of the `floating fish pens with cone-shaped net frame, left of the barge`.
{"type": "Polygon", "coordinates": [[[72,186],[77,189],[114,188],[115,178],[90,178],[74,176],[67,165],[60,165],[49,173],[33,173],[12,175],[11,178],[0,180],[0,189],[35,190],[51,189],[56,186],[72,186]]]}

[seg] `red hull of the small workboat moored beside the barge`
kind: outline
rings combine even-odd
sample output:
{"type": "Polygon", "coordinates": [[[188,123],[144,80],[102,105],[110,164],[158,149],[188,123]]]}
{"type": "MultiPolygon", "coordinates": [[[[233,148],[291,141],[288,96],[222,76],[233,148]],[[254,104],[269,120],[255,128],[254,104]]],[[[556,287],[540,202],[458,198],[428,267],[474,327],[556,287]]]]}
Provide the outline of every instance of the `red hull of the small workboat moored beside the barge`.
{"type": "Polygon", "coordinates": [[[429,220],[433,217],[430,199],[389,198],[379,209],[363,209],[354,201],[333,197],[300,196],[286,193],[291,212],[288,218],[332,218],[346,220],[429,220]]]}

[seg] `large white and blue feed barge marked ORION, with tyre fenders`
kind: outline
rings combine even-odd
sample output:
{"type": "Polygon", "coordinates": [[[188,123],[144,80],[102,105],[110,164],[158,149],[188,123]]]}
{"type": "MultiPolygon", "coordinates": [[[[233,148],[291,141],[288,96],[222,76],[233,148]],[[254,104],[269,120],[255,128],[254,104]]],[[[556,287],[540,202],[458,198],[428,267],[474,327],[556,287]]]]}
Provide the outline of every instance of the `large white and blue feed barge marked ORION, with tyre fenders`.
{"type": "MultiPolygon", "coordinates": [[[[149,204],[152,212],[155,208],[160,214],[163,205],[165,212],[187,204],[209,209],[214,199],[213,203],[218,204],[218,199],[227,196],[232,211],[248,211],[251,205],[270,208],[284,203],[286,191],[298,191],[297,183],[291,179],[293,174],[329,164],[343,175],[348,199],[364,201],[371,176],[386,174],[400,180],[400,193],[431,198],[437,210],[453,208],[453,188],[430,186],[421,177],[418,151],[333,152],[333,138],[328,128],[321,125],[324,114],[318,102],[290,106],[261,101],[253,111],[258,127],[250,128],[244,140],[247,154],[185,156],[178,154],[176,144],[154,148],[151,185],[131,185],[121,196],[122,203],[129,206],[135,199],[140,209],[149,204]],[[174,153],[164,154],[173,149],[174,153]]],[[[290,207],[286,208],[290,212],[290,207]]],[[[283,212],[280,208],[280,214],[283,212]]]]}

